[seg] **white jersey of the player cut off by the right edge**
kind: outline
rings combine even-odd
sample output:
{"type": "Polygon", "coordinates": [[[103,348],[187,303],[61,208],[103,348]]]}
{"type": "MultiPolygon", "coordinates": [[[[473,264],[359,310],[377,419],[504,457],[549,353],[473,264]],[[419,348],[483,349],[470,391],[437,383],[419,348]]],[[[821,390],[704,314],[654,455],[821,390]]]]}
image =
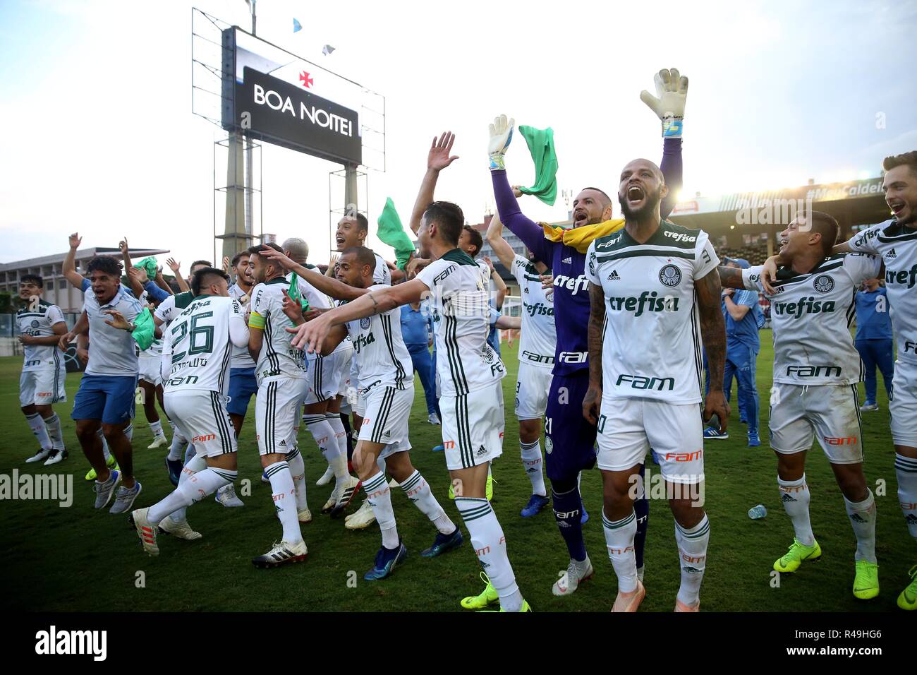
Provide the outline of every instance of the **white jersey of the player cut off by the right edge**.
{"type": "Polygon", "coordinates": [[[890,219],[860,232],[847,245],[860,253],[878,255],[885,264],[898,358],[917,363],[917,230],[890,219]]]}

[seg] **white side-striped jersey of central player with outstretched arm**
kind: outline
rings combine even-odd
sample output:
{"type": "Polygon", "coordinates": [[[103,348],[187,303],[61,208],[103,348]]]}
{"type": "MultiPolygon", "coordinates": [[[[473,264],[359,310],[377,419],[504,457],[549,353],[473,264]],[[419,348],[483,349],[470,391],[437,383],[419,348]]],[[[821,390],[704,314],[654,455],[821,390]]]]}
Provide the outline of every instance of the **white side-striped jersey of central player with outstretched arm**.
{"type": "Polygon", "coordinates": [[[428,264],[416,278],[430,289],[442,395],[461,396],[503,379],[503,361],[487,343],[491,307],[481,267],[466,253],[453,249],[428,264]]]}

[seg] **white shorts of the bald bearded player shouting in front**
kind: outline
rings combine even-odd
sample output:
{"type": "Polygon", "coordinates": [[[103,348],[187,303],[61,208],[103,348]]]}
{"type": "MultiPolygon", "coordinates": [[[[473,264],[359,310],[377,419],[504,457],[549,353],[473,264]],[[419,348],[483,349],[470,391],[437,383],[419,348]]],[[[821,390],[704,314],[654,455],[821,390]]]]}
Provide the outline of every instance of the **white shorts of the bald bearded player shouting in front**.
{"type": "Polygon", "coordinates": [[[597,464],[624,471],[656,451],[662,477],[693,485],[703,480],[703,419],[697,403],[657,399],[605,399],[599,416],[597,464]]]}

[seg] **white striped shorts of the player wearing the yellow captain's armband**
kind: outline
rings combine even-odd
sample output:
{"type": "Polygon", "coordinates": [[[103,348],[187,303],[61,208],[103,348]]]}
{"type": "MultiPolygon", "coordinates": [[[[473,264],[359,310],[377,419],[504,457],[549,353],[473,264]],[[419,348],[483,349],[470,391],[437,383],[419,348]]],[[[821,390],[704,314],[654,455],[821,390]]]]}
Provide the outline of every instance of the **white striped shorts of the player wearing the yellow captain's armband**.
{"type": "Polygon", "coordinates": [[[255,398],[255,433],[258,454],[286,455],[296,447],[303,401],[309,388],[305,377],[262,380],[255,398]]]}

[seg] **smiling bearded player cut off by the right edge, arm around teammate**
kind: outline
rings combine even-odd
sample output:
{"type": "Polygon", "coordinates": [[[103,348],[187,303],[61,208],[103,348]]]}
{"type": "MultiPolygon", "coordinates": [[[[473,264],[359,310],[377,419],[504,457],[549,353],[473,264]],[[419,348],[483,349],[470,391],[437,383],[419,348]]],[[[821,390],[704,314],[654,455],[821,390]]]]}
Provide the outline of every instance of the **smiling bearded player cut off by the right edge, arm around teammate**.
{"type": "MultiPolygon", "coordinates": [[[[869,253],[885,264],[891,326],[898,343],[889,401],[898,501],[908,531],[917,539],[917,151],[886,157],[882,168],[885,203],[894,216],[834,246],[834,253],[869,253]]],[[[762,273],[765,287],[775,270],[775,261],[768,260],[762,273]]],[[[900,592],[898,606],[912,611],[917,610],[917,565],[908,574],[911,583],[900,592]]]]}

